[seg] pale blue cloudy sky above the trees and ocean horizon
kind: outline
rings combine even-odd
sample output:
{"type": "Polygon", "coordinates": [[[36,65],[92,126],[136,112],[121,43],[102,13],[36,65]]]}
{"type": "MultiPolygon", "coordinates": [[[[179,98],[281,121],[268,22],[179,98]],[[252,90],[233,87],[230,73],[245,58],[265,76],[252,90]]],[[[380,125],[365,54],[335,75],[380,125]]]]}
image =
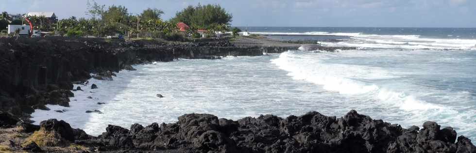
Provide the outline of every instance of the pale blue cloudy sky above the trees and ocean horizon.
{"type": "MultiPolygon", "coordinates": [[[[96,0],[147,8],[170,19],[188,5],[220,4],[232,26],[263,27],[452,27],[476,28],[476,0],[96,0]]],[[[85,15],[87,0],[1,0],[8,13],[54,12],[60,19],[85,15]]]]}

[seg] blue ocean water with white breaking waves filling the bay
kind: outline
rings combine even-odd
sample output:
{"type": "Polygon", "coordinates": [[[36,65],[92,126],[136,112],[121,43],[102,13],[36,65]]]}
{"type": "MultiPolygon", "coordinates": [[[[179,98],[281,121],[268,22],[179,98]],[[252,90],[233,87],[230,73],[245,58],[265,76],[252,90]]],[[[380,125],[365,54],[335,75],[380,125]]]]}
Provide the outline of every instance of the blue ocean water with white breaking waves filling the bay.
{"type": "Polygon", "coordinates": [[[308,111],[340,117],[355,109],[403,127],[435,121],[476,141],[476,29],[241,29],[357,49],[135,65],[137,71],[120,71],[114,81],[90,79],[99,89],[75,85],[85,91],[74,92],[70,107],[47,106],[66,112],[36,110],[32,120],[57,118],[99,135],[108,124],[176,122],[186,113],[237,120],[308,111]],[[102,114],[85,113],[95,109],[102,114]]]}

